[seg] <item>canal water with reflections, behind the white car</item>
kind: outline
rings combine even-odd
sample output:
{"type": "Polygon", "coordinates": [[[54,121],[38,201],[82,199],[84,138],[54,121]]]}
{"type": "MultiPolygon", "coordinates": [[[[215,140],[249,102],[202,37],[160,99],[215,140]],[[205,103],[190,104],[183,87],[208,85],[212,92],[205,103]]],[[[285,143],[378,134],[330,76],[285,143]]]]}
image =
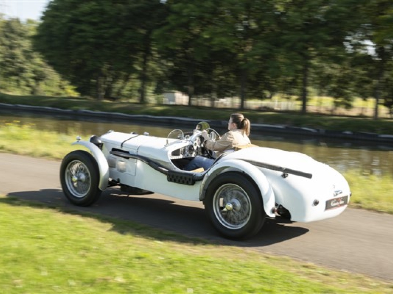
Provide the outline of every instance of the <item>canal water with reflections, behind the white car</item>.
{"type": "MultiPolygon", "coordinates": [[[[4,116],[0,115],[0,123],[18,121],[32,124],[37,129],[46,129],[75,136],[101,135],[108,130],[119,132],[149,132],[152,136],[167,136],[174,128],[181,126],[155,126],[126,122],[93,122],[70,120],[47,116],[4,116]]],[[[190,128],[185,129],[191,130],[190,128]]],[[[217,130],[224,133],[225,130],[217,130]]],[[[393,178],[393,146],[373,145],[372,143],[348,143],[338,141],[321,141],[318,139],[301,138],[299,136],[250,136],[252,143],[263,146],[301,152],[327,163],[340,172],[347,169],[359,169],[370,174],[388,174],[393,178]]]]}

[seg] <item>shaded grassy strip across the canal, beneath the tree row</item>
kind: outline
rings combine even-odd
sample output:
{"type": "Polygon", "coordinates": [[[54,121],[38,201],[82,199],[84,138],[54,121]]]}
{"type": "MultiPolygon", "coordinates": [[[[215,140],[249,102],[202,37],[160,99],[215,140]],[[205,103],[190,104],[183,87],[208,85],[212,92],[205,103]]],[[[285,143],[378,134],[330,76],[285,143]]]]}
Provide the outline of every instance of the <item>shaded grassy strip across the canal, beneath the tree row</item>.
{"type": "MultiPolygon", "coordinates": [[[[238,109],[212,107],[187,107],[181,105],[141,105],[130,102],[110,102],[86,100],[82,98],[59,98],[47,96],[15,96],[0,93],[0,103],[25,104],[57,107],[61,109],[88,109],[127,114],[149,114],[153,116],[187,116],[201,120],[228,120],[231,113],[238,109]]],[[[294,112],[242,111],[252,123],[313,127],[335,131],[375,132],[393,134],[393,120],[321,114],[299,114],[294,112]]]]}

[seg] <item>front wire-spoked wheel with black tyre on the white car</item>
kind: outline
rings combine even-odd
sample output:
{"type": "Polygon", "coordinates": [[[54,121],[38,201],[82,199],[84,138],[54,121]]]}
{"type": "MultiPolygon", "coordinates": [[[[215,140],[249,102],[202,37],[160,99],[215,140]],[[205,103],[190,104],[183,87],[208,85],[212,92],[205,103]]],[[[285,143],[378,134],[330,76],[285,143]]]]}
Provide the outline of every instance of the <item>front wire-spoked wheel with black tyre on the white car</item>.
{"type": "Polygon", "coordinates": [[[101,195],[97,162],[83,150],[72,151],[63,158],[60,182],[64,195],[78,206],[92,205],[101,195]]]}

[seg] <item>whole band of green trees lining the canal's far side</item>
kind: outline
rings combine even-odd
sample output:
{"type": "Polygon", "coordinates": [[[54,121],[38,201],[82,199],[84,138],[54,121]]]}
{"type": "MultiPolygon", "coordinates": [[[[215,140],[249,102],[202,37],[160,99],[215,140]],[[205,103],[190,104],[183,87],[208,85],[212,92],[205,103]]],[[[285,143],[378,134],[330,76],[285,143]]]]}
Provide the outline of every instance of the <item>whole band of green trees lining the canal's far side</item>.
{"type": "MultiPolygon", "coordinates": [[[[53,0],[38,24],[0,22],[0,87],[17,93],[70,86],[98,99],[191,101],[297,96],[350,108],[354,97],[390,106],[390,0],[53,0]],[[37,33],[36,33],[37,27],[37,33]],[[34,49],[29,39],[34,36],[34,49]],[[368,50],[374,46],[375,54],[368,50]],[[16,48],[13,50],[13,48],[16,48]],[[26,54],[28,53],[28,54],[26,54]],[[57,78],[56,78],[57,77],[57,78]],[[48,82],[51,79],[52,82],[48,82]]],[[[52,91],[53,92],[53,91],[52,91]]],[[[377,110],[378,107],[375,107],[377,110]]],[[[377,113],[376,113],[377,117],[377,113]]]]}

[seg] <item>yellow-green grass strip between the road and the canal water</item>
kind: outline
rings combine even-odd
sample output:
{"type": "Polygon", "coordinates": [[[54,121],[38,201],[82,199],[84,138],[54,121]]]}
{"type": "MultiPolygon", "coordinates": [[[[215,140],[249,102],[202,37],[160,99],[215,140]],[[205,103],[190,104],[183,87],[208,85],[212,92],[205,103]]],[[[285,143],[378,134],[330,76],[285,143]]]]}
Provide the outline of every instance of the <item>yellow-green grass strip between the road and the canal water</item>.
{"type": "MultiPolygon", "coordinates": [[[[61,160],[75,148],[74,135],[34,129],[34,125],[18,122],[0,124],[0,151],[61,160]]],[[[84,138],[87,140],[88,138],[84,138]]],[[[353,197],[351,207],[393,214],[393,181],[388,176],[364,174],[351,170],[344,173],[353,197]]]]}

